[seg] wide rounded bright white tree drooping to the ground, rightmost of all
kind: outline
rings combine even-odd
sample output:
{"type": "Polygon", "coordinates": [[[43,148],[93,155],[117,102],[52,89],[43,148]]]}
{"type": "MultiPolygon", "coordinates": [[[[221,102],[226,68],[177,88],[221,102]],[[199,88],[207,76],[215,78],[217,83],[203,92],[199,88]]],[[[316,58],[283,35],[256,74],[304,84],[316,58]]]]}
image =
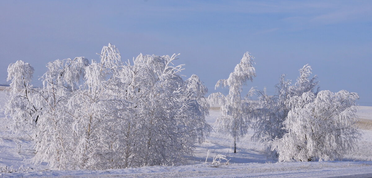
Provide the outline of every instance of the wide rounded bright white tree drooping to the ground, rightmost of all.
{"type": "Polygon", "coordinates": [[[354,125],[358,98],[357,93],[345,90],[292,97],[291,111],[284,122],[288,133],[275,143],[279,161],[341,159],[360,138],[354,125]]]}

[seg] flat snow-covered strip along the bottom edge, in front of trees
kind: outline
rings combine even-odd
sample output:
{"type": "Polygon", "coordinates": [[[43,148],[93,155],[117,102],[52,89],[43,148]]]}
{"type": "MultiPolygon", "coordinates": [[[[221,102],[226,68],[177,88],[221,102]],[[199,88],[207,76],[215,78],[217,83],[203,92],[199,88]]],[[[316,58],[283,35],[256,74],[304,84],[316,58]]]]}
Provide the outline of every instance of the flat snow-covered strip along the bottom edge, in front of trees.
{"type": "Polygon", "coordinates": [[[124,178],[367,178],[372,177],[372,162],[301,162],[277,164],[234,164],[211,167],[208,164],[179,167],[143,167],[105,171],[35,171],[3,173],[0,177],[124,177],[124,178]]]}

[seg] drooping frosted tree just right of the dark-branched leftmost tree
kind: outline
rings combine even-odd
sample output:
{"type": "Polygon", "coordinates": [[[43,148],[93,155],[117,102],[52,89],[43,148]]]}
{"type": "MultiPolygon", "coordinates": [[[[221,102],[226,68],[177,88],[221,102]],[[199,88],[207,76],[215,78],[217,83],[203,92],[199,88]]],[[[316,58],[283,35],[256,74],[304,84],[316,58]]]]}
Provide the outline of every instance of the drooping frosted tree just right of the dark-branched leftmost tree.
{"type": "Polygon", "coordinates": [[[55,169],[68,169],[74,162],[70,157],[74,151],[73,122],[76,118],[71,110],[77,109],[68,103],[79,89],[85,67],[89,65],[84,57],[74,60],[55,60],[47,64],[48,70],[42,76],[44,88],[33,96],[39,110],[39,122],[34,131],[34,162],[49,162],[55,169]]]}

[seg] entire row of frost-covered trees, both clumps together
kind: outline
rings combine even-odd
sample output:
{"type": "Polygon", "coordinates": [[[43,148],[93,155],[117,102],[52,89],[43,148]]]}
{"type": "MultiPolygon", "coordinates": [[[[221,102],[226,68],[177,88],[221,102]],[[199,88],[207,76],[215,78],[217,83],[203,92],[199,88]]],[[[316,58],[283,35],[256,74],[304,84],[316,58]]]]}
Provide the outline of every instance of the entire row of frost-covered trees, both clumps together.
{"type": "MultiPolygon", "coordinates": [[[[208,89],[196,75],[183,80],[176,57],[140,54],[122,62],[109,44],[99,62],[49,62],[43,88],[32,87],[33,67],[19,60],[8,67],[11,97],[4,110],[12,130],[33,139],[32,161],[52,169],[182,164],[211,126],[205,121],[208,89]]],[[[360,138],[356,93],[320,91],[305,65],[294,85],[282,75],[275,95],[252,88],[242,97],[243,86],[256,76],[253,59],[245,53],[229,78],[217,82],[216,88],[229,88],[228,95],[209,95],[221,105],[217,130],[232,136],[234,153],[250,128],[252,139],[279,161],[334,160],[353,149],[360,138]]]]}

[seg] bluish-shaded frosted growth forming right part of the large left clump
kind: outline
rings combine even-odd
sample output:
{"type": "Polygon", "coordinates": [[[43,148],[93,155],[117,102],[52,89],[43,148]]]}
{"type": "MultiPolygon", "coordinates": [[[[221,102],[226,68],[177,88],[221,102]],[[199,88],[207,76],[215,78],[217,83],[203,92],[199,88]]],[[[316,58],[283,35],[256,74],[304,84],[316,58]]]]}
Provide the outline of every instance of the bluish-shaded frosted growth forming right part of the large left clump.
{"type": "Polygon", "coordinates": [[[209,106],[202,101],[205,85],[197,76],[183,81],[173,66],[173,56],[143,56],[129,68],[126,92],[135,122],[142,128],[137,133],[132,164],[171,165],[192,155],[196,142],[208,134],[205,122],[209,106]]]}

